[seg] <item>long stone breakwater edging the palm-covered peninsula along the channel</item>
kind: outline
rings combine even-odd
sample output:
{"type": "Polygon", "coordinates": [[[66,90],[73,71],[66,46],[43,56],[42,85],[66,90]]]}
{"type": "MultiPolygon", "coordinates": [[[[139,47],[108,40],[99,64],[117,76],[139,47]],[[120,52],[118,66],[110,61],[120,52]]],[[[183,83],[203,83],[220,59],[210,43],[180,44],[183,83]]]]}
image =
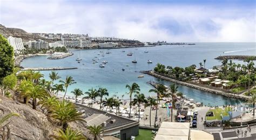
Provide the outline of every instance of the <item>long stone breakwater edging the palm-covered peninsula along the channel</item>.
{"type": "Polygon", "coordinates": [[[210,92],[210,93],[214,93],[214,94],[219,94],[219,95],[223,95],[225,97],[230,97],[230,98],[235,98],[235,99],[242,99],[242,100],[250,99],[250,97],[246,97],[245,95],[234,95],[232,93],[224,92],[224,91],[221,91],[221,90],[211,89],[210,87],[208,87],[208,88],[207,87],[201,87],[201,86],[196,85],[196,84],[181,82],[179,80],[172,79],[172,78],[160,75],[159,73],[156,73],[156,72],[153,72],[153,71],[140,71],[140,72],[145,73],[147,75],[151,75],[151,76],[160,78],[160,79],[168,80],[168,81],[173,82],[173,83],[177,83],[177,84],[180,84],[180,85],[192,87],[193,89],[206,91],[206,92],[210,92]]]}

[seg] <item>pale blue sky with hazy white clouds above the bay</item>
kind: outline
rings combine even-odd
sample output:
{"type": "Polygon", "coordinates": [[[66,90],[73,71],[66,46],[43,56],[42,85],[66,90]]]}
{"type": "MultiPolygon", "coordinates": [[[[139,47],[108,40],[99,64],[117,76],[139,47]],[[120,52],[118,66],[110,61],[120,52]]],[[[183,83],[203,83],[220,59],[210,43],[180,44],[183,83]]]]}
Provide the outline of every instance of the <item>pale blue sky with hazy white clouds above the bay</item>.
{"type": "Polygon", "coordinates": [[[139,41],[255,42],[255,9],[247,0],[0,0],[0,24],[139,41]]]}

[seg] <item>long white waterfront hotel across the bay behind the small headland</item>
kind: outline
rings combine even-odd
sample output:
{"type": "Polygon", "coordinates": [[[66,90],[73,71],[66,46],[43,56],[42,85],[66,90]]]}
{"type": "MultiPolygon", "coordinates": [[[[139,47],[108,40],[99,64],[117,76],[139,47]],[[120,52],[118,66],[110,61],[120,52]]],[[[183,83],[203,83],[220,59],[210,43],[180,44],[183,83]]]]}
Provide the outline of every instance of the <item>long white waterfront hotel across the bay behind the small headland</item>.
{"type": "Polygon", "coordinates": [[[57,41],[57,43],[70,48],[86,48],[91,46],[90,40],[62,40],[57,41]]]}

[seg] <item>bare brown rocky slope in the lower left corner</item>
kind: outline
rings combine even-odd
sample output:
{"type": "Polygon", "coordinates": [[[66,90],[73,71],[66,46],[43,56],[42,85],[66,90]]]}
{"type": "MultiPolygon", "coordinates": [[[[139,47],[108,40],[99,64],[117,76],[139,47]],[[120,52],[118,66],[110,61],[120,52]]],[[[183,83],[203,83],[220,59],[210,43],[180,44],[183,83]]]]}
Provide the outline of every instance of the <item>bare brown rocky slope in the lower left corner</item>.
{"type": "MultiPolygon", "coordinates": [[[[4,114],[15,112],[20,115],[11,117],[9,120],[10,139],[49,139],[49,135],[57,129],[42,112],[2,96],[0,99],[2,99],[0,108],[4,109],[4,114]]],[[[0,117],[4,114],[1,112],[0,117]]]]}

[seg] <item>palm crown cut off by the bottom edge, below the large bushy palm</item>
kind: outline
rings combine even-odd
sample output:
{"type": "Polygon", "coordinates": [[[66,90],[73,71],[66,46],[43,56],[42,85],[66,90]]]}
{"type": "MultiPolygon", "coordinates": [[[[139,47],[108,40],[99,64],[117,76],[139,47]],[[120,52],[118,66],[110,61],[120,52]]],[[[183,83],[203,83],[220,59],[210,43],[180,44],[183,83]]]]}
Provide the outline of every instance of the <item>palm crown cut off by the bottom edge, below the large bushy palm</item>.
{"type": "Polygon", "coordinates": [[[72,130],[69,127],[66,131],[59,130],[57,135],[50,135],[50,137],[57,139],[57,140],[66,140],[66,139],[83,139],[86,140],[85,136],[81,131],[72,130]]]}

